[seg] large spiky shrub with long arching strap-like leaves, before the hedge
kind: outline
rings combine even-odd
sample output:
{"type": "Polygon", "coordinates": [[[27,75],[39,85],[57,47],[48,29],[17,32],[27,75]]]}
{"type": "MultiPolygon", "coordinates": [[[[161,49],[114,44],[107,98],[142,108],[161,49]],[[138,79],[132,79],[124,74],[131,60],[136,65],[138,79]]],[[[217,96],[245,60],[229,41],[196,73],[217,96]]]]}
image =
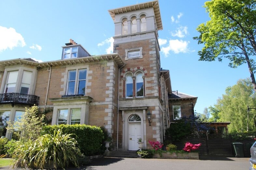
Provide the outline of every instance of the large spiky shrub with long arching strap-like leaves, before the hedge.
{"type": "Polygon", "coordinates": [[[80,150],[76,147],[77,141],[71,134],[63,134],[61,130],[54,130],[53,135],[46,134],[36,141],[25,142],[13,154],[13,167],[40,168],[53,162],[54,168],[68,167],[69,163],[78,166],[80,150]]]}

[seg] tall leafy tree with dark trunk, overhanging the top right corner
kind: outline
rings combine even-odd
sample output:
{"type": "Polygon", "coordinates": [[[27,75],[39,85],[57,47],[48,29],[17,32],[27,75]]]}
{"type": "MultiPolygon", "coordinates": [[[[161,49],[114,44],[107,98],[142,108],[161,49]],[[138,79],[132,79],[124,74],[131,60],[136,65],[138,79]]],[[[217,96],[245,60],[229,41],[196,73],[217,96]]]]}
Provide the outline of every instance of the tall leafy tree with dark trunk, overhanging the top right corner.
{"type": "Polygon", "coordinates": [[[232,68],[247,63],[256,91],[256,0],[212,0],[204,7],[210,20],[197,27],[200,36],[194,37],[204,44],[199,60],[227,58],[232,68]]]}

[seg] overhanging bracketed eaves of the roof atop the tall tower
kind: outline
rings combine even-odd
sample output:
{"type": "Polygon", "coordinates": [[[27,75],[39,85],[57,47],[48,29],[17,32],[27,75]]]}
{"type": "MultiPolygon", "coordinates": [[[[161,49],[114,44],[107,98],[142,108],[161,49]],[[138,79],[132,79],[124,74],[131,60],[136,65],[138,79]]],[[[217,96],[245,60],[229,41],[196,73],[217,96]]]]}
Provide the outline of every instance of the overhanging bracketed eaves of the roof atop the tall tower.
{"type": "Polygon", "coordinates": [[[120,13],[125,13],[125,12],[150,8],[150,7],[154,8],[154,14],[155,14],[155,19],[156,19],[156,24],[157,24],[158,30],[163,30],[158,1],[150,1],[150,2],[140,3],[140,4],[130,5],[130,6],[126,6],[126,7],[120,7],[120,8],[116,8],[116,9],[109,9],[108,12],[109,12],[110,16],[112,17],[112,19],[115,21],[115,14],[120,14],[120,13]]]}

